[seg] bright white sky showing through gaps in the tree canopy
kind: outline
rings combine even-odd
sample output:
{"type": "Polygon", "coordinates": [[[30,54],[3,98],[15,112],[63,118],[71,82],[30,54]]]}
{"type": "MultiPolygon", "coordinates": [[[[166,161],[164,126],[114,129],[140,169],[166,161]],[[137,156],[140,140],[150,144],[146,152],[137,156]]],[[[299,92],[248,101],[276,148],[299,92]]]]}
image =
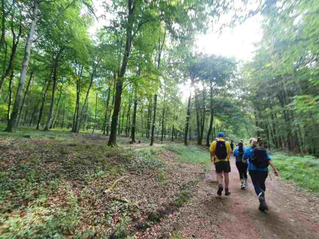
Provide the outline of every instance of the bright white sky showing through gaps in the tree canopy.
{"type": "MultiPolygon", "coordinates": [[[[102,0],[93,0],[93,2],[97,10],[96,15],[100,16],[104,12],[103,7],[100,6],[102,0]]],[[[199,35],[196,42],[198,51],[234,57],[237,61],[250,61],[256,50],[254,43],[259,42],[263,35],[260,27],[261,21],[261,16],[254,16],[233,29],[224,29],[222,34],[210,32],[206,35],[199,35]]],[[[90,33],[94,34],[98,28],[105,24],[107,24],[106,21],[96,21],[91,27],[90,33]]],[[[183,91],[183,99],[188,98],[190,87],[180,85],[180,88],[183,91]]]]}

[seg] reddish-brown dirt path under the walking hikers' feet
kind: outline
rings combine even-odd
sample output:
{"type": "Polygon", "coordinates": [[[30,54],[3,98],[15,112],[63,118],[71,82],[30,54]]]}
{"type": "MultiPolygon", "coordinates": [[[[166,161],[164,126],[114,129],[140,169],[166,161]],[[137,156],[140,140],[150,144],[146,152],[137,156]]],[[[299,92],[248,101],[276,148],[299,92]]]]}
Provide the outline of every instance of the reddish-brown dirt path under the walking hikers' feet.
{"type": "MultiPolygon", "coordinates": [[[[231,159],[230,196],[219,198],[217,183],[205,179],[189,205],[175,215],[175,229],[186,238],[319,238],[318,200],[289,185],[280,177],[266,179],[268,214],[258,210],[259,201],[249,178],[245,190],[231,159]],[[177,226],[176,226],[177,225],[177,226]]],[[[216,176],[214,175],[215,179],[216,176]]]]}

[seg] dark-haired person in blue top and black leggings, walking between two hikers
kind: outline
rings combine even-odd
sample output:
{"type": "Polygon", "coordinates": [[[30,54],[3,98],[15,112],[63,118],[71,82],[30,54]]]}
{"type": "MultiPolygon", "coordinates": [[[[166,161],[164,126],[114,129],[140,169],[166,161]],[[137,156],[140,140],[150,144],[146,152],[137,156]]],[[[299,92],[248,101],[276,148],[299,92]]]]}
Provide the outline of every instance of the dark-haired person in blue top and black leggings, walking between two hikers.
{"type": "Polygon", "coordinates": [[[238,146],[234,150],[234,156],[236,158],[236,167],[239,172],[239,178],[241,182],[241,189],[245,189],[245,186],[249,185],[249,182],[247,180],[247,168],[248,163],[242,161],[242,157],[244,156],[244,152],[247,148],[244,147],[244,144],[239,141],[238,146]]]}

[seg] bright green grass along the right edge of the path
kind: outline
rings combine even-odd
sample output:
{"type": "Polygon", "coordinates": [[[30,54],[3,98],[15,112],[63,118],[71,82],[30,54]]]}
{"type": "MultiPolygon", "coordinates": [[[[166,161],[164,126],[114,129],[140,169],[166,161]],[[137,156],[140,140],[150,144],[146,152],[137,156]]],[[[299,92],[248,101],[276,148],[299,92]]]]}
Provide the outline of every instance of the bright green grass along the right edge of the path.
{"type": "Polygon", "coordinates": [[[275,154],[272,157],[279,174],[293,180],[300,187],[319,194],[319,159],[314,156],[286,156],[275,154]]]}

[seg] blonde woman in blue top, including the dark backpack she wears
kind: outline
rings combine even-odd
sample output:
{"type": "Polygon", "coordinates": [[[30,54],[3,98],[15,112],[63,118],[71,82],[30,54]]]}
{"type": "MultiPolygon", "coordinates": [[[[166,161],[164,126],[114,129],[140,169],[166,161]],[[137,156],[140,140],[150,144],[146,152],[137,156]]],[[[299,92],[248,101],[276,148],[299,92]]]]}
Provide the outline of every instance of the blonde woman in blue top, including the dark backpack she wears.
{"type": "Polygon", "coordinates": [[[249,142],[251,147],[245,150],[242,160],[244,163],[248,160],[249,175],[260,203],[258,209],[262,212],[267,212],[265,180],[268,176],[268,165],[271,165],[276,176],[278,176],[278,172],[266,150],[263,147],[258,147],[259,142],[255,138],[249,139],[249,142]]]}

